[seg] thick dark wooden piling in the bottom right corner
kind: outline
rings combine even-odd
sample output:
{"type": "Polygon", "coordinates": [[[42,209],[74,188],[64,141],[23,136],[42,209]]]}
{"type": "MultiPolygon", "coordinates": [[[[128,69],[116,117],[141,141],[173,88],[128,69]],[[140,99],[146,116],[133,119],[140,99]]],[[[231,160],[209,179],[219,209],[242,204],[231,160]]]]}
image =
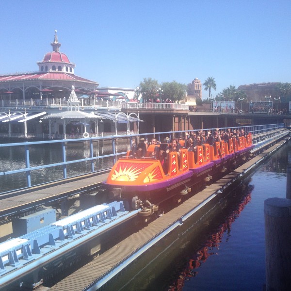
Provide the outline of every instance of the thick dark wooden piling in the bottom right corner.
{"type": "Polygon", "coordinates": [[[266,291],[289,291],[291,286],[291,200],[264,201],[266,291]]]}

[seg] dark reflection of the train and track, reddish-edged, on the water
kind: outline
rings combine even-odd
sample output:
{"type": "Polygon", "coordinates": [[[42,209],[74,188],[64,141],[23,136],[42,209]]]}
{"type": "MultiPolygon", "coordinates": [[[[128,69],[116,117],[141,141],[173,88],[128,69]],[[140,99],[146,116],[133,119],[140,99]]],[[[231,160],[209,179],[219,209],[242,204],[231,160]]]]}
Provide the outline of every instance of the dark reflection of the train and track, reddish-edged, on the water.
{"type": "Polygon", "coordinates": [[[185,280],[218,254],[222,236],[230,236],[231,225],[251,200],[252,190],[245,181],[227,197],[214,198],[207,210],[196,212],[102,290],[181,290],[185,280]]]}

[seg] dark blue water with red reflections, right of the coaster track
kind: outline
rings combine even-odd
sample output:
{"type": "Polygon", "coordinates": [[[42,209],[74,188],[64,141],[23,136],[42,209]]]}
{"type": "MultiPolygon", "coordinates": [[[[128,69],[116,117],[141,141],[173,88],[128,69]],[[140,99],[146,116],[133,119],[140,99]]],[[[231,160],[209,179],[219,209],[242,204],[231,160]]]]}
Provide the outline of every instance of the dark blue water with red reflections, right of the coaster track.
{"type": "Polygon", "coordinates": [[[288,160],[290,142],[227,198],[213,201],[208,213],[197,213],[104,290],[262,291],[263,204],[270,197],[286,198],[288,160]]]}

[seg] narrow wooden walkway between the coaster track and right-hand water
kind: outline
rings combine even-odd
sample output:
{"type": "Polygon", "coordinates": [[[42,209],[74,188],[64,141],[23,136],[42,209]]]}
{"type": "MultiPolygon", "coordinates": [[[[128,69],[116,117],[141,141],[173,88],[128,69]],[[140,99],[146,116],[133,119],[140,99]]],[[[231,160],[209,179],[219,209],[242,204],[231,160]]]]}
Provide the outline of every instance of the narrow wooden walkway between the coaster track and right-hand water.
{"type": "Polygon", "coordinates": [[[263,153],[254,157],[252,160],[244,163],[239,168],[227,174],[225,177],[212,183],[205,190],[195,194],[183,204],[180,204],[178,207],[164,214],[162,217],[149,223],[139,232],[133,233],[122,242],[117,243],[113,248],[103,254],[100,254],[100,256],[96,257],[76,272],[67,276],[62,281],[49,288],[49,290],[81,291],[88,290],[90,287],[92,287],[91,290],[97,290],[96,286],[93,285],[97,284],[104,274],[112,272],[121,261],[127,259],[130,255],[133,255],[137,249],[141,248],[144,244],[146,244],[146,242],[161,233],[167,226],[180,219],[185,213],[193,210],[230,181],[238,179],[246,169],[259,162],[259,160],[274,151],[277,146],[280,146],[285,142],[286,140],[282,140],[275,146],[271,146],[263,153]]]}

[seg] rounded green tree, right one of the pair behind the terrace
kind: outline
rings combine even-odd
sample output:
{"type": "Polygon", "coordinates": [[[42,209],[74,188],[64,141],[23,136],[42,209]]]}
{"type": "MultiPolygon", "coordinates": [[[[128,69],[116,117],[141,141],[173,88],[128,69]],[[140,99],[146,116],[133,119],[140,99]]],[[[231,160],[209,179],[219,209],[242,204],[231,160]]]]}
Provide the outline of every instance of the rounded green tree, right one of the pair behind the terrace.
{"type": "Polygon", "coordinates": [[[169,100],[172,102],[179,102],[186,96],[185,84],[178,83],[177,81],[163,82],[162,83],[162,97],[164,100],[169,100]]]}

